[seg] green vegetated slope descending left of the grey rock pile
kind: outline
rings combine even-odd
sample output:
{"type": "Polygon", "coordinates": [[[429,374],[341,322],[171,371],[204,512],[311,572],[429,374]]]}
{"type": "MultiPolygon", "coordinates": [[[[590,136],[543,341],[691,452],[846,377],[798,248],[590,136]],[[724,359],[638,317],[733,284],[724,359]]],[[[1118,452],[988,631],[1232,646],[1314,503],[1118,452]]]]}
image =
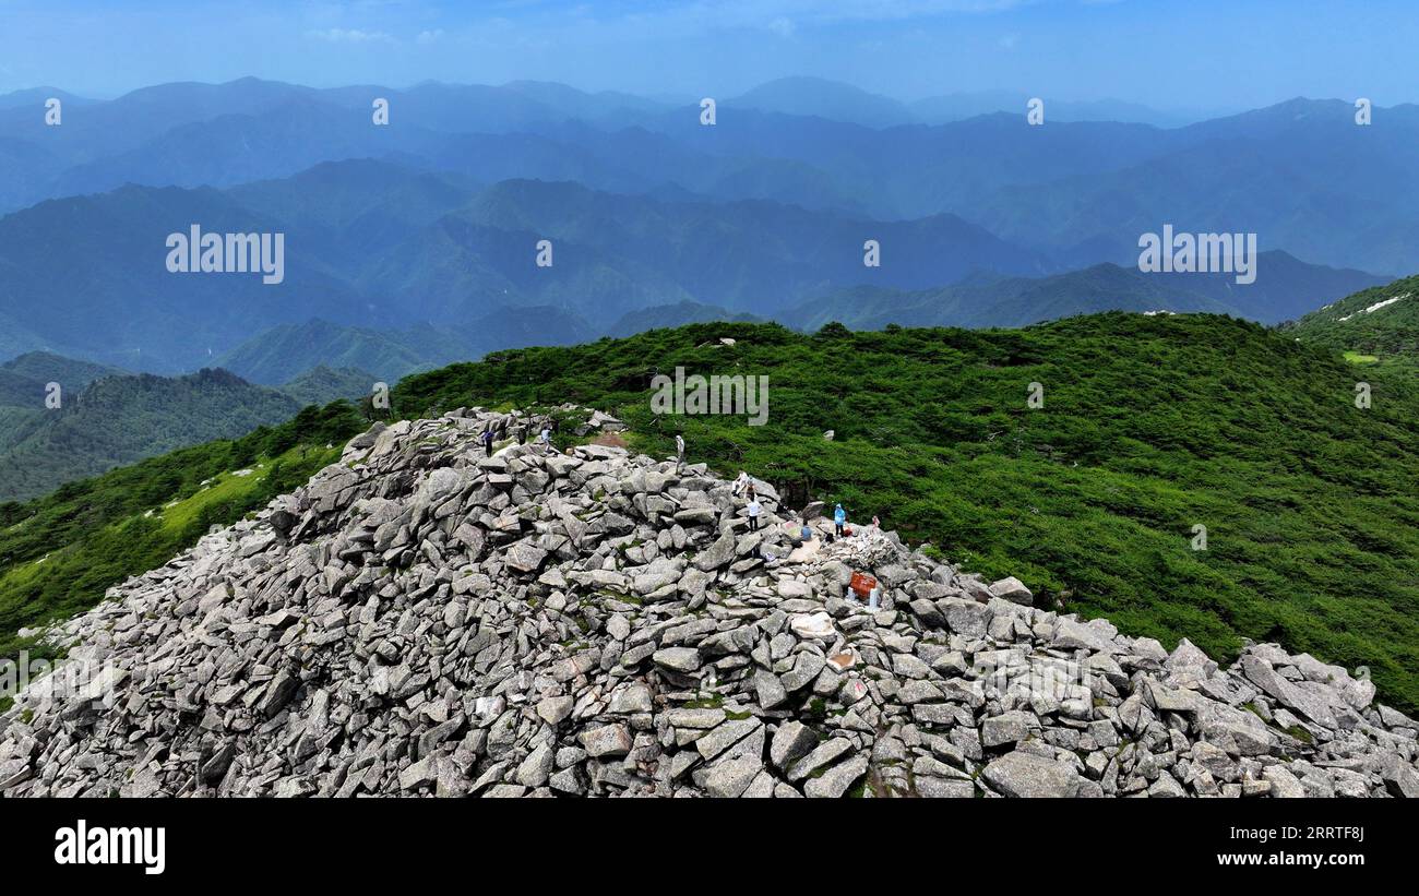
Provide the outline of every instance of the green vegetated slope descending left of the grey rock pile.
{"type": "Polygon", "coordinates": [[[173,451],[28,503],[0,503],[0,656],[40,649],[18,638],[21,627],[91,607],[109,586],[162,566],[209,526],[304,483],[365,425],[345,401],[308,407],[238,439],[173,451]],[[223,476],[244,468],[253,474],[223,476]]]}

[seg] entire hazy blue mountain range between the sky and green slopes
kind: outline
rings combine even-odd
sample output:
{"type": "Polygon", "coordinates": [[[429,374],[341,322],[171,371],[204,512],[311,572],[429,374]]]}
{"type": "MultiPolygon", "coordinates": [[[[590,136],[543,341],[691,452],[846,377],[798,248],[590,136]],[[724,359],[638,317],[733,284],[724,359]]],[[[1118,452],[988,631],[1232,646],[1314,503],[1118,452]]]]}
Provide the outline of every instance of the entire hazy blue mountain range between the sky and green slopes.
{"type": "Polygon", "coordinates": [[[247,78],[55,92],[50,128],[41,94],[0,101],[0,357],[394,381],[719,318],[1009,326],[1118,308],[1276,323],[1419,268],[1416,106],[1362,128],[1347,102],[1297,99],[1165,129],[1070,122],[1047,99],[1036,128],[1023,109],[962,119],[789,78],[722,98],[710,128],[694,99],[546,82],[247,78]],[[167,272],[167,234],[192,224],[284,234],[284,282],[167,272]],[[1138,237],[1164,224],[1257,233],[1257,282],[1139,275],[1138,237]],[[863,265],[868,240],[881,267],[863,265]]]}

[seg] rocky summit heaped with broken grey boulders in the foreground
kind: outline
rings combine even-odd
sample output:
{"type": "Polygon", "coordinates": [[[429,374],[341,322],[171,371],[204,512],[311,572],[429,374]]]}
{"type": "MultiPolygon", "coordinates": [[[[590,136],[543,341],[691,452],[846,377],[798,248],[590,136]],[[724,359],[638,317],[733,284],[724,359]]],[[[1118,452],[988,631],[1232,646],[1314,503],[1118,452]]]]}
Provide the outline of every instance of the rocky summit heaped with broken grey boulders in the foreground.
{"type": "Polygon", "coordinates": [[[871,526],[803,542],[762,482],[751,530],[702,465],[485,457],[519,420],[376,424],[44,632],[68,661],[0,717],[0,794],[1419,794],[1364,676],[1222,669],[871,526]]]}

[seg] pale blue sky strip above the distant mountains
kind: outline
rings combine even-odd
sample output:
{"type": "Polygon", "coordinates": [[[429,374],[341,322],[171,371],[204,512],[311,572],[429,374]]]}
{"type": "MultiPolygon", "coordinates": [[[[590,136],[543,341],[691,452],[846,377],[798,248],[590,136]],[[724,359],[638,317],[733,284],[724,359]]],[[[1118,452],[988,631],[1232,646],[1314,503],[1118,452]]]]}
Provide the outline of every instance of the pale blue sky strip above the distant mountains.
{"type": "Polygon", "coordinates": [[[1413,0],[0,0],[0,92],[114,96],[257,75],[312,86],[532,78],[732,95],[819,75],[1229,111],[1419,101],[1413,0]]]}

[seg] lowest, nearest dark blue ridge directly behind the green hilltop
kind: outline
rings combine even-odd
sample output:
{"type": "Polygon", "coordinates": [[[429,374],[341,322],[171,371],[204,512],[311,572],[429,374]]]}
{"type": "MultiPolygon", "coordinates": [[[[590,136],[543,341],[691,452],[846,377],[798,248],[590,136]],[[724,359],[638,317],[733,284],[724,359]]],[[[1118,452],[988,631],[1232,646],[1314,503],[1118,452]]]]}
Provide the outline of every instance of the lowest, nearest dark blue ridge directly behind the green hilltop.
{"type": "MultiPolygon", "coordinates": [[[[1266,252],[1260,264],[1274,276],[1259,278],[1249,288],[1229,275],[1189,279],[1185,275],[1139,274],[1135,268],[1101,264],[1042,278],[975,272],[959,284],[925,291],[883,286],[850,286],[782,309],[775,320],[802,330],[816,330],[837,320],[853,329],[898,326],[1025,326],[1039,320],[1094,313],[1101,309],[1134,312],[1209,312],[1279,322],[1298,301],[1314,306],[1348,289],[1382,282],[1359,271],[1305,265],[1284,252],[1266,252]],[[1320,295],[1321,289],[1335,291],[1320,295]],[[1256,289],[1254,293],[1247,289],[1256,289]]],[[[680,302],[627,312],[604,330],[551,308],[501,309],[482,325],[407,330],[349,327],[325,320],[285,325],[258,333],[223,356],[221,364],[258,383],[280,383],[307,359],[353,363],[383,371],[393,383],[410,373],[475,359],[498,347],[575,345],[596,335],[622,337],[658,327],[711,320],[759,320],[755,315],[715,305],[680,302]],[[505,323],[505,326],[498,326],[505,323]],[[521,326],[521,329],[518,329],[521,326]],[[481,336],[477,337],[477,336],[481,336]]]]}

